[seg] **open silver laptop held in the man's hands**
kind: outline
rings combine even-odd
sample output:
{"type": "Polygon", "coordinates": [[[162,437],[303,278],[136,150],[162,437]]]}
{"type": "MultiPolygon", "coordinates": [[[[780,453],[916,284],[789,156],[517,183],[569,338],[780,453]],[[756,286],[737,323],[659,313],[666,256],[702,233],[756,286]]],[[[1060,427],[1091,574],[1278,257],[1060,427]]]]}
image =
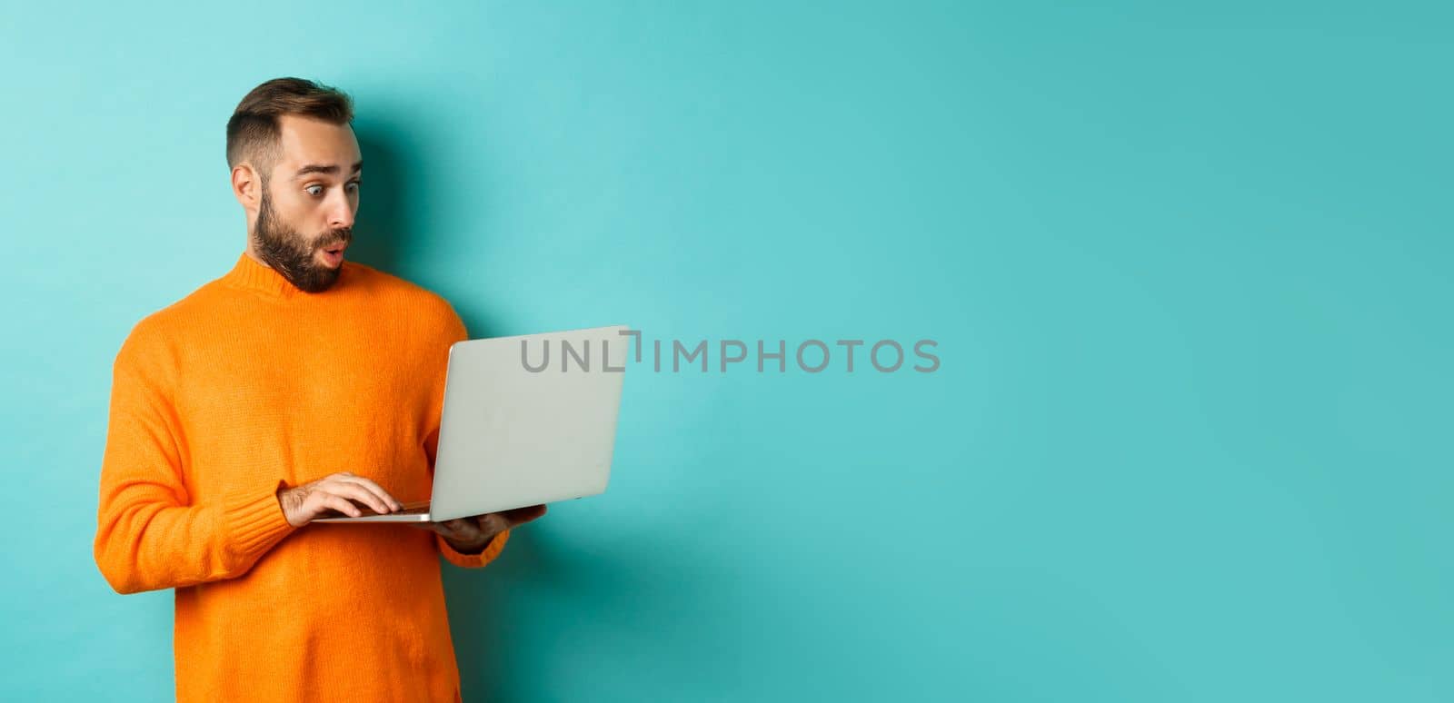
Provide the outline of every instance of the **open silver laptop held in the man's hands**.
{"type": "Polygon", "coordinates": [[[445,370],[427,501],[316,523],[423,523],[585,498],[606,491],[627,325],[457,341],[445,370]]]}

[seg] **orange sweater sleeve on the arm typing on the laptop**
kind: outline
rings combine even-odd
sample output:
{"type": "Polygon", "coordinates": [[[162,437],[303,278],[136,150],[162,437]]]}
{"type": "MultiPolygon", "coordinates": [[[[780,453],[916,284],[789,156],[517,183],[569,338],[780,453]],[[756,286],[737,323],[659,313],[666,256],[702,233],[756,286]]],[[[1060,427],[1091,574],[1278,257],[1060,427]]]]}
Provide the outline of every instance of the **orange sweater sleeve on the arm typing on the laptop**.
{"type": "MultiPolygon", "coordinates": [[[[138,327],[140,330],[140,327],[138,327]]],[[[112,366],[93,553],[116,593],[238,577],[294,527],[282,475],[193,503],[183,481],[166,353],[132,330],[112,366]]]]}

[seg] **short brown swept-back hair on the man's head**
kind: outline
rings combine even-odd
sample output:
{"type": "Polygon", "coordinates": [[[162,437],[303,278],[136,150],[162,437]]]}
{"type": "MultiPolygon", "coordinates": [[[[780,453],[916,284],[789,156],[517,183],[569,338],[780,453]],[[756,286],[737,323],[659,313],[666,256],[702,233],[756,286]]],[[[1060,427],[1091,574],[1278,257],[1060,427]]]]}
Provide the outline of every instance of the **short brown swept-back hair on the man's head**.
{"type": "Polygon", "coordinates": [[[302,115],[334,125],[353,122],[353,99],[348,93],[302,78],[273,78],[254,87],[237,103],[227,121],[227,167],[249,161],[263,184],[278,163],[282,115],[302,115]]]}

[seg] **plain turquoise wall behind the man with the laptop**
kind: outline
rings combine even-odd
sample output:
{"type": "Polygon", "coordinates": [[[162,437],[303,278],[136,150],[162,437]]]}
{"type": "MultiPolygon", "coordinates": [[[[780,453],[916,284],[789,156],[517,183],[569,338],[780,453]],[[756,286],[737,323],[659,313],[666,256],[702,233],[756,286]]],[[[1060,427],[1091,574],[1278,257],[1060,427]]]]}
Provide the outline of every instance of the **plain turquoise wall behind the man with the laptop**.
{"type": "Polygon", "coordinates": [[[1454,699],[1447,4],[138,7],[0,22],[6,696],[172,696],[111,363],[300,76],[475,337],[938,341],[630,370],[609,491],[445,565],[467,700],[1454,699]]]}

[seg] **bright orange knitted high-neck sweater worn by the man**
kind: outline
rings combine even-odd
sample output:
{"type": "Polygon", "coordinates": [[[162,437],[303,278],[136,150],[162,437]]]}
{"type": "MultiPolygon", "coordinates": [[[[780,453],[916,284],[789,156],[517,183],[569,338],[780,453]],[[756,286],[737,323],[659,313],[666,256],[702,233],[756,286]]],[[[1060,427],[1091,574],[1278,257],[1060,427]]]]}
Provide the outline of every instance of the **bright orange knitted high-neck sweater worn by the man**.
{"type": "Polygon", "coordinates": [[[439,295],[345,261],[298,290],[247,254],[142,318],[113,365],[96,565],[176,588],[177,700],[458,702],[442,555],[404,524],[292,527],[276,489],[352,471],[429,498],[449,344],[439,295]]]}

